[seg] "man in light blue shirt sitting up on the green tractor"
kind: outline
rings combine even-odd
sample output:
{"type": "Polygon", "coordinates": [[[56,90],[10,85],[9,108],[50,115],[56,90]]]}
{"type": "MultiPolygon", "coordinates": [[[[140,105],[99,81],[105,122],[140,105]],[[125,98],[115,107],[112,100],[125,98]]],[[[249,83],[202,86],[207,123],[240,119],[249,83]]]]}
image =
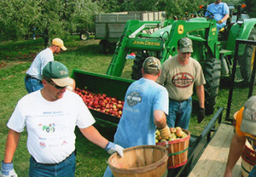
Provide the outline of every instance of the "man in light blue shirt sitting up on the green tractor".
{"type": "MultiPolygon", "coordinates": [[[[217,30],[219,31],[226,26],[226,20],[230,17],[230,10],[226,3],[222,3],[221,0],[215,0],[215,3],[211,3],[207,10],[212,12],[213,19],[217,22],[217,30]]],[[[211,15],[209,12],[207,15],[211,15]]]]}

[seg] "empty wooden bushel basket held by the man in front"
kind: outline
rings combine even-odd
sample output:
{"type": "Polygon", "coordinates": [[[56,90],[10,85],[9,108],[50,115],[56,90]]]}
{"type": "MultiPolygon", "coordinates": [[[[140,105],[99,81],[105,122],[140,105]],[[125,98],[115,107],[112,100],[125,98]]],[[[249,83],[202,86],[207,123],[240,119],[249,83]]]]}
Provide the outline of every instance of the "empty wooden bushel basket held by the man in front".
{"type": "Polygon", "coordinates": [[[167,151],[161,146],[134,146],[124,150],[124,157],[114,153],[108,158],[114,177],[165,177],[167,151]]]}

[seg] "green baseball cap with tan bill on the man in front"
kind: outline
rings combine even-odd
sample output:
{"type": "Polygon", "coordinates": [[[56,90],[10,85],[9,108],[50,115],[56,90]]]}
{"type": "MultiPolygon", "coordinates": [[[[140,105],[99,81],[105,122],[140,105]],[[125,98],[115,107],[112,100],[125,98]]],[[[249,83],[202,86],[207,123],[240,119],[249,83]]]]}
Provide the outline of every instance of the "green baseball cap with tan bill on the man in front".
{"type": "Polygon", "coordinates": [[[49,61],[49,63],[44,66],[43,76],[49,77],[60,87],[73,84],[72,78],[68,77],[67,67],[58,61],[49,61]]]}

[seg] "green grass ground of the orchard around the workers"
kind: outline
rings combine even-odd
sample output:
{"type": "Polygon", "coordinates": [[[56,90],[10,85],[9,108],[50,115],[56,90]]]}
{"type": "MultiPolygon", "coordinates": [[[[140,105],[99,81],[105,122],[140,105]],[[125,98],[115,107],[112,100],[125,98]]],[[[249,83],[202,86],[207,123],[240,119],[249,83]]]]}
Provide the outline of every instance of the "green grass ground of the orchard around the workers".
{"type": "MultiPolygon", "coordinates": [[[[83,71],[106,73],[112,59],[112,54],[101,54],[98,48],[99,41],[90,39],[80,41],[79,36],[72,36],[64,41],[67,51],[55,55],[55,60],[66,65],[71,73],[73,68],[83,71]]],[[[9,120],[15,105],[26,93],[24,85],[25,72],[32,63],[32,60],[39,51],[44,49],[44,41],[41,38],[23,42],[2,42],[0,43],[0,159],[4,156],[5,140],[8,133],[6,123],[9,120]]],[[[122,77],[130,78],[132,61],[128,61],[122,77]]],[[[217,106],[226,106],[228,100],[228,89],[220,89],[217,106]]],[[[196,106],[196,96],[193,96],[196,106]]],[[[189,131],[199,135],[205,128],[212,116],[206,117],[201,124],[196,122],[196,114],[193,111],[189,131]]],[[[96,128],[108,138],[113,140],[112,134],[116,125],[96,119],[96,128]]],[[[108,160],[108,153],[86,140],[76,129],[77,170],[76,176],[102,176],[108,160]]],[[[19,176],[28,176],[29,154],[26,150],[26,130],[21,134],[20,143],[15,152],[15,170],[19,176]]]]}

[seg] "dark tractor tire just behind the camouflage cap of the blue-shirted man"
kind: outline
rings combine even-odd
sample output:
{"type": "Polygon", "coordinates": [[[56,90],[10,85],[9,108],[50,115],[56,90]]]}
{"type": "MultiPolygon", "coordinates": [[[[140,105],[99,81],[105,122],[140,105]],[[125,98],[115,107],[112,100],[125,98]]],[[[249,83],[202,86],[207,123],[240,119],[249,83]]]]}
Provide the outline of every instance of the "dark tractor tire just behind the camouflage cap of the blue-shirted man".
{"type": "Polygon", "coordinates": [[[143,67],[143,62],[147,57],[148,57],[148,52],[146,53],[138,52],[135,60],[133,60],[133,66],[132,66],[132,72],[131,72],[132,79],[137,80],[143,77],[142,67],[143,67]]]}

